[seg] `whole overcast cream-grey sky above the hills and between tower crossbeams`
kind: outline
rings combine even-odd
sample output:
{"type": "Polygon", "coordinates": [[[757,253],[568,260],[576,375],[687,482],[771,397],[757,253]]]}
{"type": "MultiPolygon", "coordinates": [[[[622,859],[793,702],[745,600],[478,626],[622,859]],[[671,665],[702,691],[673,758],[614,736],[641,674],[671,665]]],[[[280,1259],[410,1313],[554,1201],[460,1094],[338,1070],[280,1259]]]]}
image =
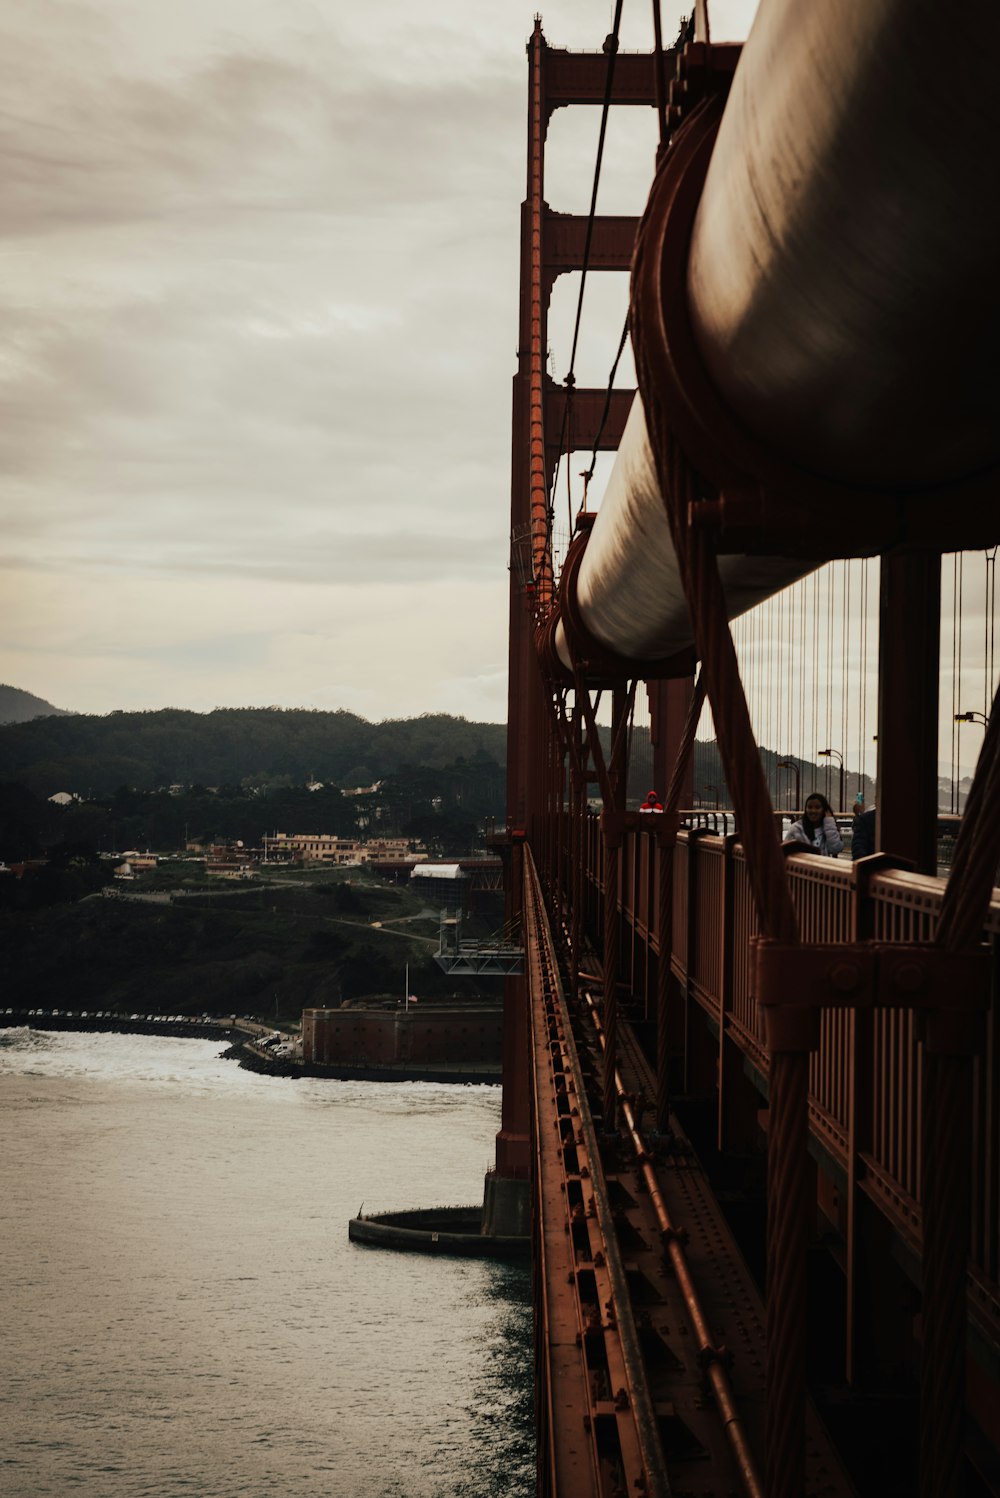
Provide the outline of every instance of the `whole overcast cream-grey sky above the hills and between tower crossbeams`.
{"type": "MultiPolygon", "coordinates": [[[[7,0],[0,680],[91,713],[506,718],[534,9],[7,0]]],[[[716,3],[713,34],[753,10],[716,3]]],[[[576,48],[612,13],[542,7],[576,48]]],[[[653,112],[620,114],[599,211],[651,175],[653,112]]],[[[597,123],[558,111],[552,207],[585,211],[597,123]]],[[[626,306],[600,282],[582,382],[626,306]]]]}

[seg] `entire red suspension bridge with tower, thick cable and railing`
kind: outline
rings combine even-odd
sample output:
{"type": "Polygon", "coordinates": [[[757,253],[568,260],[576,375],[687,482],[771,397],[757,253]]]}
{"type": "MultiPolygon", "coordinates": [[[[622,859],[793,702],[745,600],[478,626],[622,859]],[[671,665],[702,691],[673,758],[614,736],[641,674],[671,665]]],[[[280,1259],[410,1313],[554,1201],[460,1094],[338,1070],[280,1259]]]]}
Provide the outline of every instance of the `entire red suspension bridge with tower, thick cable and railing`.
{"type": "Polygon", "coordinates": [[[699,7],[620,54],[620,10],[528,43],[496,1188],[539,1492],[1000,1492],[999,12],[762,0],[743,48],[699,7]],[[656,111],[641,220],[599,171],[548,205],[576,105],[656,111]],[[597,270],[638,391],[548,374],[597,270]],[[874,854],[781,845],[819,764],[874,854]]]}

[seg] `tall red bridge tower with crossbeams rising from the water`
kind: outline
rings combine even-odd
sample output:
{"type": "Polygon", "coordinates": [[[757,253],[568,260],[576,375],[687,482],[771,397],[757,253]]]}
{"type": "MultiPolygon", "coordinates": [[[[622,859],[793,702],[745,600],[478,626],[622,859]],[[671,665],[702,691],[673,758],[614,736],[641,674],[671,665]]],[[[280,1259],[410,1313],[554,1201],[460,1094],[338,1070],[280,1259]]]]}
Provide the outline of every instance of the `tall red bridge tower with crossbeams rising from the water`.
{"type": "MultiPolygon", "coordinates": [[[[638,219],[555,213],[545,201],[545,136],[552,112],[570,105],[600,105],[608,57],[552,48],[540,19],[527,45],[527,196],[521,205],[521,280],[518,367],[513,376],[510,485],[510,593],[507,686],[507,825],[500,840],[506,857],[506,923],[521,917],[519,849],[542,833],[548,776],[548,688],[539,668],[534,629],[539,608],[552,595],[548,545],[551,487],[564,433],[572,445],[615,451],[633,391],[617,391],[602,425],[603,389],[557,385],[546,372],[548,307],[555,279],[581,271],[627,271],[638,219]]],[[[654,103],[651,54],[617,58],[612,103],[654,103]]],[[[503,1118],[497,1135],[496,1176],[487,1182],[485,1221],[496,1231],[525,1230],[528,1182],[528,1034],[524,977],[504,980],[503,1118]],[[503,1185],[518,1182],[518,1186],[503,1185]],[[501,1207],[500,1201],[507,1206],[501,1207]],[[512,1215],[513,1213],[513,1218],[512,1215]],[[512,1222],[518,1224],[513,1227],[512,1222]]]]}

